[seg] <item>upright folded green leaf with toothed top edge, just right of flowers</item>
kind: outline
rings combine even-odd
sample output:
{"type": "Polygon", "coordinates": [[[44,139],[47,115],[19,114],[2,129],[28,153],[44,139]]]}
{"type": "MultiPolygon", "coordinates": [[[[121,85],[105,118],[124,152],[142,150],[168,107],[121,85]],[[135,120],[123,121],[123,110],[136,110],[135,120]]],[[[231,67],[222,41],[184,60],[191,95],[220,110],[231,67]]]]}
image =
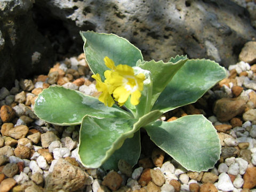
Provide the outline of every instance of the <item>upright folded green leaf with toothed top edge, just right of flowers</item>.
{"type": "Polygon", "coordinates": [[[151,72],[151,78],[153,81],[153,88],[150,99],[151,101],[150,103],[147,103],[145,100],[147,100],[148,98],[145,96],[145,94],[142,94],[142,97],[140,99],[141,101],[137,106],[137,110],[139,111],[138,113],[142,115],[148,113],[148,111],[145,111],[146,106],[148,107],[148,105],[150,106],[149,110],[151,110],[155,101],[165,89],[166,85],[171,81],[173,76],[184,65],[186,61],[187,59],[180,59],[176,63],[164,63],[162,60],[157,62],[154,60],[137,62],[138,67],[151,72]]]}

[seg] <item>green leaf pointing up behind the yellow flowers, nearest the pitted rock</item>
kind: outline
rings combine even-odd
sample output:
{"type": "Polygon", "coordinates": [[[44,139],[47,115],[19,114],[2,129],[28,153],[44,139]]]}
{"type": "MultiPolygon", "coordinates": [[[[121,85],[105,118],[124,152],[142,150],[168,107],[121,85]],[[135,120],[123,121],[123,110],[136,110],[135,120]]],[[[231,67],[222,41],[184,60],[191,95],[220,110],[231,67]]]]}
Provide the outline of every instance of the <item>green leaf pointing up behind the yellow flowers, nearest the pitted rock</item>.
{"type": "Polygon", "coordinates": [[[143,60],[141,51],[127,39],[114,34],[99,34],[93,31],[80,31],[84,40],[84,53],[90,69],[94,74],[100,74],[102,79],[104,71],[109,70],[103,59],[107,56],[115,65],[125,64],[131,67],[140,59],[143,60]]]}

